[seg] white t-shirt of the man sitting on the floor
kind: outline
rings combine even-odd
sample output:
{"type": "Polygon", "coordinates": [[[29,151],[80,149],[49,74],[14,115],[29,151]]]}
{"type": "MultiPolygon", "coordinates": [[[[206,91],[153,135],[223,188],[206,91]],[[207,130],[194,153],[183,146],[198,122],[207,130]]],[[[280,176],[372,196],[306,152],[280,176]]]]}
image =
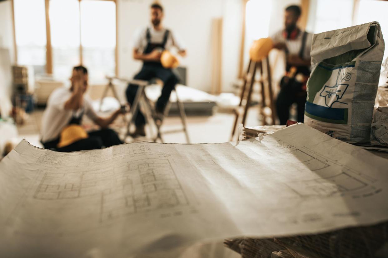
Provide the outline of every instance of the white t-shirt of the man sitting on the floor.
{"type": "Polygon", "coordinates": [[[53,91],[47,101],[47,106],[42,116],[42,128],[40,134],[42,142],[49,142],[59,137],[62,129],[67,126],[74,116],[78,116],[83,110],[91,120],[98,118],[90,100],[83,96],[83,105],[77,111],[66,110],[65,103],[71,97],[72,92],[67,87],[60,87],[53,91]]]}

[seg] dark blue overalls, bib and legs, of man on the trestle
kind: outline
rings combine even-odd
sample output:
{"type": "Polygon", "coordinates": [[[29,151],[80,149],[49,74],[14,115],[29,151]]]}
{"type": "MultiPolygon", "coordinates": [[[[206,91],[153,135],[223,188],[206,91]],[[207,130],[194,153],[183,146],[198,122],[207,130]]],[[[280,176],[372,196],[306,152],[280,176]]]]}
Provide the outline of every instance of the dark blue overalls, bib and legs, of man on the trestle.
{"type": "MultiPolygon", "coordinates": [[[[144,50],[144,54],[149,54],[153,50],[161,48],[165,50],[166,42],[170,31],[166,30],[165,36],[162,43],[151,43],[151,34],[149,28],[147,29],[147,47],[144,50]]],[[[163,81],[163,89],[161,96],[156,102],[156,111],[163,113],[165,110],[166,104],[170,99],[171,91],[175,88],[175,85],[178,83],[178,77],[173,73],[172,69],[164,68],[160,62],[143,62],[143,67],[133,79],[136,80],[151,80],[153,78],[158,78],[163,81]]],[[[135,100],[137,89],[139,88],[136,84],[129,84],[126,89],[126,97],[128,103],[132,106],[133,101],[135,100]]],[[[145,119],[144,115],[139,111],[137,117],[135,118],[135,125],[144,125],[145,119]]]]}

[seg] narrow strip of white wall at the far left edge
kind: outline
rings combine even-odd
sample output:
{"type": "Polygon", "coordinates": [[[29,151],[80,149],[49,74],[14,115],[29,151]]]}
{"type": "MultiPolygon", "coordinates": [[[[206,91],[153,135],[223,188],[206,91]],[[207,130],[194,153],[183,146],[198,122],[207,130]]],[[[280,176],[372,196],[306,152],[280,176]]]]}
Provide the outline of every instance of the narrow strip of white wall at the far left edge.
{"type": "Polygon", "coordinates": [[[0,48],[8,49],[11,63],[15,63],[11,4],[10,0],[0,2],[0,48]]]}

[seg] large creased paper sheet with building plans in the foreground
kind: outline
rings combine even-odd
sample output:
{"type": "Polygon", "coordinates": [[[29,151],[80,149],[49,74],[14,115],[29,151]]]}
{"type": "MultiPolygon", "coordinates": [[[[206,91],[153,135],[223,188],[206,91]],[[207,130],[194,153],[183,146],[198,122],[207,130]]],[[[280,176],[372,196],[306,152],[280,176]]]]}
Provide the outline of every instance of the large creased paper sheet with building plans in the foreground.
{"type": "Polygon", "coordinates": [[[387,172],[303,124],[237,145],[57,153],[22,141],[0,162],[0,256],[129,257],[374,224],[388,219],[387,172]]]}

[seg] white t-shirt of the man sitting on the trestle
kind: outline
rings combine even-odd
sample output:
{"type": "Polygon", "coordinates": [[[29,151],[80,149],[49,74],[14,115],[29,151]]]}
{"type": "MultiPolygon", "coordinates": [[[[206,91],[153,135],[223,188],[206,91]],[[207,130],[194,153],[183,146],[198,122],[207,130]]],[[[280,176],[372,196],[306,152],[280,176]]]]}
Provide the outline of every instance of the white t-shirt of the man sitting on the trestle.
{"type": "MultiPolygon", "coordinates": [[[[133,42],[133,47],[136,48],[139,53],[143,53],[145,48],[147,47],[147,28],[149,28],[149,34],[151,36],[151,43],[159,44],[163,43],[163,39],[165,38],[166,29],[163,28],[160,31],[156,31],[154,27],[146,27],[140,31],[135,33],[133,42]]],[[[178,50],[185,50],[182,41],[178,39],[178,37],[173,34],[173,32],[169,29],[170,33],[168,34],[168,38],[166,41],[165,49],[171,50],[171,48],[176,47],[178,50]]]]}

